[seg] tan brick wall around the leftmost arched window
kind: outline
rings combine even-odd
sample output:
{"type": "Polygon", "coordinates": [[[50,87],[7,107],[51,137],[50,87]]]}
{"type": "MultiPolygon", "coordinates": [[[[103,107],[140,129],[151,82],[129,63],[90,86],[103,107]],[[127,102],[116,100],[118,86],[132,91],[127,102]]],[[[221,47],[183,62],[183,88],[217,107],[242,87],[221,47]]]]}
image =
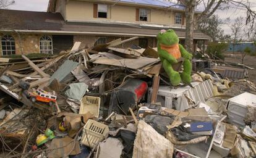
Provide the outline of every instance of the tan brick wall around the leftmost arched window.
{"type": "MultiPolygon", "coordinates": [[[[30,54],[30,53],[40,53],[39,40],[41,35],[29,35],[29,34],[1,34],[11,35],[15,40],[15,54],[30,54]]],[[[2,45],[0,43],[0,51],[2,56],[2,45]]]]}

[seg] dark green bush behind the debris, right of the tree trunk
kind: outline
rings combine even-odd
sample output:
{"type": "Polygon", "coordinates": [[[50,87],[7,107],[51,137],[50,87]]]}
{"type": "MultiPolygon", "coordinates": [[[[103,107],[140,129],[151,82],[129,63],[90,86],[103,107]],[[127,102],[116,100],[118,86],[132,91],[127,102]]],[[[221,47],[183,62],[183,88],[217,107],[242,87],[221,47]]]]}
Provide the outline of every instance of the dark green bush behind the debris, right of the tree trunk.
{"type": "Polygon", "coordinates": [[[207,54],[211,57],[211,59],[222,59],[224,60],[224,52],[228,49],[227,43],[216,43],[211,42],[207,46],[207,54]]]}

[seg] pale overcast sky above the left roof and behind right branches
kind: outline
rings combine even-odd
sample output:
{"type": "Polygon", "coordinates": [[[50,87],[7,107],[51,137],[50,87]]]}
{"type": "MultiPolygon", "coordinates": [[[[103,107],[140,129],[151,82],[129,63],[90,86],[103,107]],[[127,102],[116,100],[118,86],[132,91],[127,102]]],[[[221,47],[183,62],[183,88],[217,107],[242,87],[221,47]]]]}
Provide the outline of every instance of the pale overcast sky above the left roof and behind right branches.
{"type": "MultiPolygon", "coordinates": [[[[46,11],[49,0],[15,0],[15,4],[10,6],[9,9],[15,10],[33,10],[33,11],[46,11]]],[[[249,0],[251,2],[252,9],[256,11],[256,0],[249,0]]],[[[218,10],[216,12],[221,19],[230,18],[231,20],[236,19],[236,17],[242,16],[246,17],[246,12],[244,10],[229,9],[229,10],[218,10]]],[[[231,33],[228,25],[221,26],[225,33],[231,33]]]]}

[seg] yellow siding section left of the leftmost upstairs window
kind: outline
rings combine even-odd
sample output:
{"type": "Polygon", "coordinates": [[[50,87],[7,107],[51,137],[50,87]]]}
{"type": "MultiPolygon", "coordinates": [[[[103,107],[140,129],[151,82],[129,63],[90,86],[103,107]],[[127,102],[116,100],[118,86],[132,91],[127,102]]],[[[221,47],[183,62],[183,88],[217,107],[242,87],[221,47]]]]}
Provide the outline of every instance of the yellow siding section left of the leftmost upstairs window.
{"type": "Polygon", "coordinates": [[[93,3],[69,1],[66,5],[66,20],[86,21],[93,19],[93,3]]]}

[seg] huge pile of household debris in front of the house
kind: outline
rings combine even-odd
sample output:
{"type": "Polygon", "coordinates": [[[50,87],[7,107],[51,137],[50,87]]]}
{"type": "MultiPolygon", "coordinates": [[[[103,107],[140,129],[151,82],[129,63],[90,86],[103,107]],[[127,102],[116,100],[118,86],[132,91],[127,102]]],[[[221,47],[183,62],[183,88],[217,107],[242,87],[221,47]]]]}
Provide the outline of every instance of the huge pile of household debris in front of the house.
{"type": "Polygon", "coordinates": [[[121,48],[133,39],[0,60],[1,156],[256,156],[252,82],[211,69],[172,87],[155,48],[121,48]]]}

